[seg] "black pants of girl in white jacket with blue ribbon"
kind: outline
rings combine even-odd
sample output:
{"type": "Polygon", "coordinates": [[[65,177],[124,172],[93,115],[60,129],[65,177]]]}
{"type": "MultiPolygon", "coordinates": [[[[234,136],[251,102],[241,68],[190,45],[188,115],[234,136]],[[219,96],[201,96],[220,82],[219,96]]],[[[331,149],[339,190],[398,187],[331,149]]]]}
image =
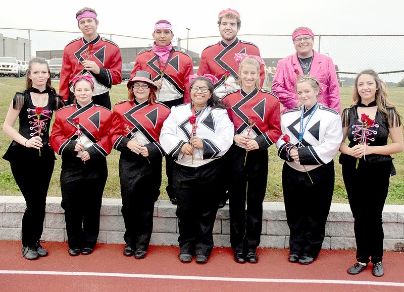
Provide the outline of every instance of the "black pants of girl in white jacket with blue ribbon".
{"type": "Polygon", "coordinates": [[[309,171],[298,171],[286,162],[282,188],[290,229],[289,252],[317,258],[325,236],[325,224],[334,192],[334,161],[309,171]]]}

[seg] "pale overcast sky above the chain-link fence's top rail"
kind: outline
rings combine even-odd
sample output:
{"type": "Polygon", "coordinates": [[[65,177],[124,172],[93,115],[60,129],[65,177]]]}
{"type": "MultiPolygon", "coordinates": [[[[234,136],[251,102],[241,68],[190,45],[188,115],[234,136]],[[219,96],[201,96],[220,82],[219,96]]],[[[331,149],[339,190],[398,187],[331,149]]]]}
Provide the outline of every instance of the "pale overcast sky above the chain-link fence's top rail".
{"type": "Polygon", "coordinates": [[[2,2],[0,27],[78,31],[76,12],[98,13],[98,32],[150,37],[154,24],[167,19],[175,37],[218,35],[218,13],[227,8],[241,16],[239,34],[291,34],[308,26],[315,34],[403,34],[400,1],[27,1],[2,2]],[[263,3],[263,4],[262,4],[263,3]]]}

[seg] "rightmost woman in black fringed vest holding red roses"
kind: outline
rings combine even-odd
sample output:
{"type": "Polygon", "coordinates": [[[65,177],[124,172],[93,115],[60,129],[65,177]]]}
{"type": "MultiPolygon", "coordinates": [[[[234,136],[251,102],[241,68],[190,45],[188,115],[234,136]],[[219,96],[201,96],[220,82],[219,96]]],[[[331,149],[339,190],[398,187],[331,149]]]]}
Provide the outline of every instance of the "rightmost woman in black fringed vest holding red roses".
{"type": "Polygon", "coordinates": [[[358,74],[353,99],[354,104],[342,112],[343,140],[339,148],[357,243],[358,262],[347,272],[359,274],[371,261],[372,274],[380,277],[384,274],[382,212],[390,176],[395,174],[390,154],[404,148],[401,116],[387,99],[385,82],[373,70],[358,74]]]}

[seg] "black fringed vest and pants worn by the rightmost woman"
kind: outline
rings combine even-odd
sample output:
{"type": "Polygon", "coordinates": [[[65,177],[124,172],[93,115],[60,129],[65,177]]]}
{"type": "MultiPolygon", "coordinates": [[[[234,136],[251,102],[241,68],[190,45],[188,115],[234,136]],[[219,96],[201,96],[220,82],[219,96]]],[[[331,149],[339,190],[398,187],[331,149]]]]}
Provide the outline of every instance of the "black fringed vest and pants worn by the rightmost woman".
{"type": "MultiPolygon", "coordinates": [[[[376,101],[368,106],[375,106],[376,101]]],[[[359,143],[355,135],[355,128],[362,126],[358,115],[359,105],[348,107],[342,113],[342,127],[347,127],[348,147],[354,147],[359,143]]],[[[395,108],[387,107],[390,115],[390,124],[400,127],[401,121],[395,108]]],[[[370,146],[387,145],[389,135],[389,123],[387,115],[377,110],[375,125],[369,127],[366,133],[366,143],[370,146]]],[[[359,134],[362,134],[361,132],[359,134]]],[[[346,193],[348,194],[349,206],[355,218],[354,229],[357,243],[357,260],[361,263],[378,263],[383,258],[383,226],[382,212],[388,193],[390,176],[396,174],[390,155],[366,154],[359,160],[343,154],[339,156],[342,164],[342,177],[346,193]],[[371,182],[377,177],[377,182],[371,182]],[[366,215],[364,214],[366,210],[366,215]]]]}

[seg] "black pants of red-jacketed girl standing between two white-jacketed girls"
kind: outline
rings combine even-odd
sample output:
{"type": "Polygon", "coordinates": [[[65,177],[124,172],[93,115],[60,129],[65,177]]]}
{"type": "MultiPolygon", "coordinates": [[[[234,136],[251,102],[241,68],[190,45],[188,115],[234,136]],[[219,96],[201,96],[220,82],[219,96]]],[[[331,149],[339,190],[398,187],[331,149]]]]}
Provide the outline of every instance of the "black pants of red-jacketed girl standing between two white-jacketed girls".
{"type": "Polygon", "coordinates": [[[229,186],[231,247],[234,253],[255,252],[261,241],[268,151],[249,151],[245,165],[245,149],[233,144],[229,152],[232,170],[232,182],[229,186]]]}

